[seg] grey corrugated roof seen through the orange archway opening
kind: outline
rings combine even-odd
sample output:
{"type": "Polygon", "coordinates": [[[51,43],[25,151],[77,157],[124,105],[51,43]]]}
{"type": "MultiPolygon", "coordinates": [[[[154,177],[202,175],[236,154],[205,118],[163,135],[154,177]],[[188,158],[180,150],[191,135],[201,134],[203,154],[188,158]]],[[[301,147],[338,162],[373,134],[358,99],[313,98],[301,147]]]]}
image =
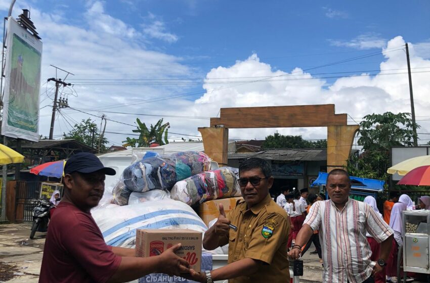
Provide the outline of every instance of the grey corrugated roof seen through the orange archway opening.
{"type": "Polygon", "coordinates": [[[324,161],[327,160],[327,150],[272,149],[256,153],[229,154],[229,159],[246,159],[250,157],[281,161],[324,161]]]}

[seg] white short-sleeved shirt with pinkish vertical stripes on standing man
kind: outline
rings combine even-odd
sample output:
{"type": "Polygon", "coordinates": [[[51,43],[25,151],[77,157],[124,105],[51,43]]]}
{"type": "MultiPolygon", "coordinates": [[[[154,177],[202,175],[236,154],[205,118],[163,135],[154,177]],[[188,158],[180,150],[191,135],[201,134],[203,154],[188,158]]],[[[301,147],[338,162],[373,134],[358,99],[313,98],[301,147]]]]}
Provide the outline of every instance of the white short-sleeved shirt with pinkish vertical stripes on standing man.
{"type": "Polygon", "coordinates": [[[393,234],[389,225],[368,204],[348,199],[338,210],[331,200],[312,205],[305,224],[319,230],[324,261],[323,282],[361,283],[370,277],[375,262],[366,230],[378,243],[393,234]]]}

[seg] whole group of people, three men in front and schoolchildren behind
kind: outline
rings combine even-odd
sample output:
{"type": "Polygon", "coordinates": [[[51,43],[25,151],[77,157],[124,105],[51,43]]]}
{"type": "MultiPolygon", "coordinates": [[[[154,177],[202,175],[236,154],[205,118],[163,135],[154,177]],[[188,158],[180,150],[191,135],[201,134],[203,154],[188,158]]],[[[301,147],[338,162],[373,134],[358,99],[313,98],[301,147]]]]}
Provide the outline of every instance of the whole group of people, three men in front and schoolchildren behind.
{"type": "MultiPolygon", "coordinates": [[[[196,272],[175,251],[136,257],[135,249],[107,246],[91,216],[104,192],[104,167],[93,154],[80,153],[64,167],[64,194],[48,229],[39,282],[126,282],[149,273],[166,273],[212,283],[289,282],[289,259],[297,259],[314,244],[323,265],[323,282],[394,282],[397,247],[402,244],[404,210],[413,209],[407,195],[390,195],[383,215],[373,197],[364,202],[349,197],[348,172],[328,173],[327,195],[309,194],[307,188],[282,188],[276,202],[269,194],[274,183],[270,164],[259,158],[244,160],[238,184],[243,197],[204,233],[203,248],[228,248],[228,264],[196,272]],[[56,268],[52,268],[55,266],[56,268]]],[[[52,201],[58,201],[56,194],[52,201]]],[[[430,197],[419,199],[430,208],[430,197]]]]}

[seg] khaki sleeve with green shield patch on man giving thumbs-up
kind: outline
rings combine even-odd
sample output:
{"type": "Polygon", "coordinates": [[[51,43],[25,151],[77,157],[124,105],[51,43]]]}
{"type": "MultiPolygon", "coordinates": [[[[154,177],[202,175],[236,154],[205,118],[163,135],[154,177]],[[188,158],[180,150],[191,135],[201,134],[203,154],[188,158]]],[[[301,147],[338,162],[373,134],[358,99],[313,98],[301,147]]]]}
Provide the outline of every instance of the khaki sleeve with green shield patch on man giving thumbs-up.
{"type": "Polygon", "coordinates": [[[271,264],[275,253],[288,238],[290,230],[289,222],[282,215],[274,213],[261,221],[255,229],[257,230],[252,233],[249,239],[247,239],[247,237],[244,239],[245,248],[246,245],[248,245],[245,258],[261,260],[267,264],[271,264]],[[263,229],[265,229],[270,236],[266,234],[266,238],[263,234],[263,229]],[[270,233],[270,231],[272,231],[272,233],[270,233]]]}

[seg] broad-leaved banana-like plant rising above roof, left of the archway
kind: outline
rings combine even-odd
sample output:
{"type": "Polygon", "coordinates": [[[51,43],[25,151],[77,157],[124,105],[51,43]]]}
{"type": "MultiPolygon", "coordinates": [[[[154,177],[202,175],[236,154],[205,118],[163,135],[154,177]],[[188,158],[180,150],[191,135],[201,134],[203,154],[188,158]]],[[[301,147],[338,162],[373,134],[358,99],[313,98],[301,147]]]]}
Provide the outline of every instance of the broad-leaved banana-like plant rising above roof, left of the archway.
{"type": "Polygon", "coordinates": [[[124,147],[149,147],[151,144],[159,144],[160,146],[168,144],[167,134],[168,128],[170,128],[169,123],[163,124],[163,119],[158,120],[158,122],[153,126],[151,124],[150,129],[142,123],[139,118],[136,119],[138,124],[137,129],[133,130],[135,133],[139,133],[139,138],[127,137],[126,140],[122,141],[125,143],[124,147]]]}

